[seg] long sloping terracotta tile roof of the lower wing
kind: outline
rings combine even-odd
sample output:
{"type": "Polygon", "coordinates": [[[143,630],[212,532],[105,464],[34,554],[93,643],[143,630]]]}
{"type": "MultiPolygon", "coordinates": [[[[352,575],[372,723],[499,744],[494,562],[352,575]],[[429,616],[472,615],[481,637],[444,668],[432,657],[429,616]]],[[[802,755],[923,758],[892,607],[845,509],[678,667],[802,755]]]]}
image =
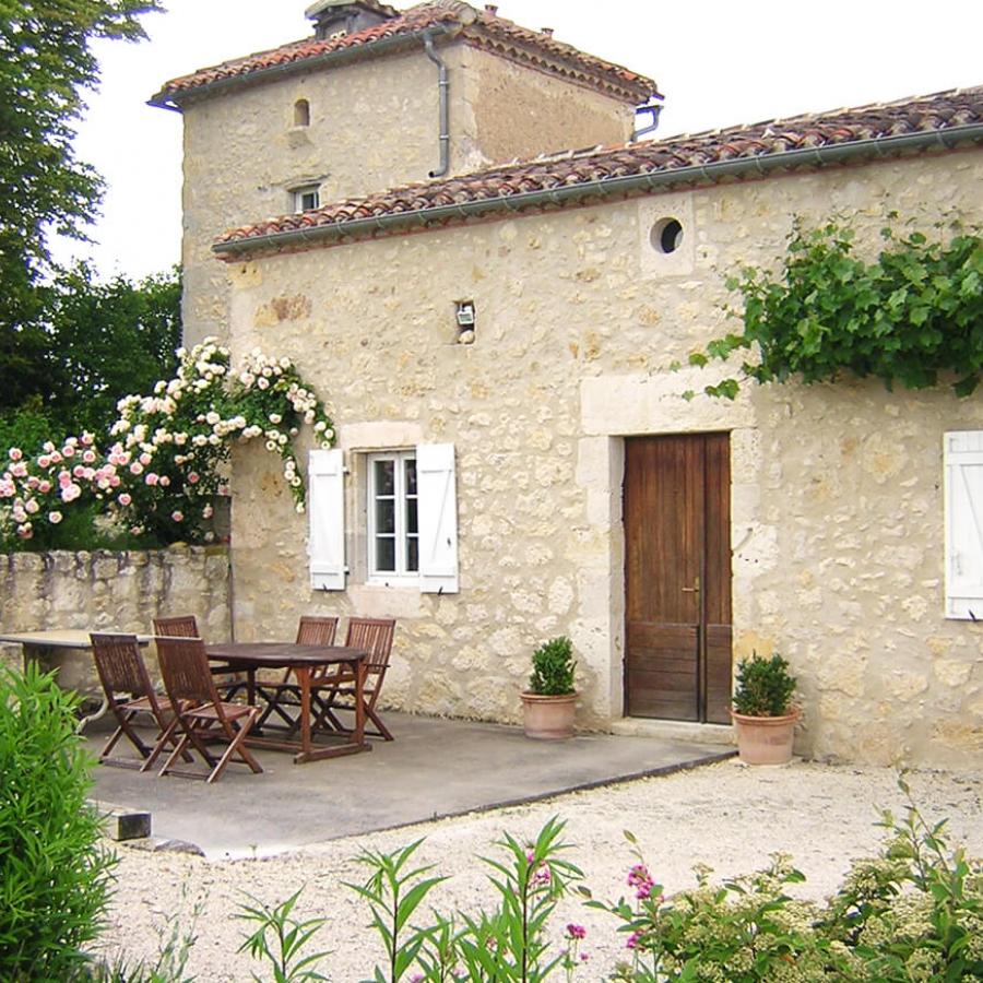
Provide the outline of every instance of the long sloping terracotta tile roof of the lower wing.
{"type": "MultiPolygon", "coordinates": [[[[406,185],[297,215],[271,218],[233,229],[218,240],[218,245],[220,248],[224,246],[223,251],[234,250],[237,244],[248,248],[251,245],[249,240],[265,239],[298,228],[334,228],[344,235],[346,225],[359,218],[421,213],[421,220],[426,221],[429,211],[442,205],[466,205],[489,199],[500,200],[502,210],[507,210],[509,199],[525,192],[557,188],[582,187],[582,200],[592,191],[600,191],[596,182],[614,178],[655,174],[671,176],[672,171],[723,161],[762,158],[789,151],[849,145],[919,132],[944,135],[955,127],[980,125],[983,125],[983,86],[660,141],[565,151],[449,179],[406,185]]],[[[976,134],[974,139],[979,141],[983,137],[976,134]]],[[[880,152],[884,150],[881,146],[880,152]]],[[[872,155],[877,153],[877,150],[872,150],[872,155]]],[[[818,163],[812,159],[812,154],[808,158],[805,163],[818,163]]],[[[689,181],[698,179],[699,176],[694,177],[691,171],[687,178],[689,181]]],[[[516,205],[521,206],[521,202],[516,202],[513,208],[516,205]]],[[[275,242],[270,245],[275,246],[275,242]]]]}

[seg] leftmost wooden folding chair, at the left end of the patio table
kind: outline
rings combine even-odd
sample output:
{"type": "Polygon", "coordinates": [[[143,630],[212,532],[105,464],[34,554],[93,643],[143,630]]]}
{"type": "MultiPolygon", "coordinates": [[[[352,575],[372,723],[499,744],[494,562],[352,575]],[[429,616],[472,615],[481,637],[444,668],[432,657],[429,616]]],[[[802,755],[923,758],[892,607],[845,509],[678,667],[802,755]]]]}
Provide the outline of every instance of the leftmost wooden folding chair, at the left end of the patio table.
{"type": "MultiPolygon", "coordinates": [[[[99,754],[99,763],[146,771],[167,744],[178,743],[174,737],[175,710],[170,699],[154,689],[135,635],[95,633],[88,638],[108,708],[118,724],[99,754]],[[149,747],[133,727],[133,719],[141,713],[149,715],[156,724],[153,747],[149,747]],[[123,734],[140,754],[139,760],[110,757],[109,753],[123,734]]],[[[185,757],[191,760],[190,755],[185,757]]]]}

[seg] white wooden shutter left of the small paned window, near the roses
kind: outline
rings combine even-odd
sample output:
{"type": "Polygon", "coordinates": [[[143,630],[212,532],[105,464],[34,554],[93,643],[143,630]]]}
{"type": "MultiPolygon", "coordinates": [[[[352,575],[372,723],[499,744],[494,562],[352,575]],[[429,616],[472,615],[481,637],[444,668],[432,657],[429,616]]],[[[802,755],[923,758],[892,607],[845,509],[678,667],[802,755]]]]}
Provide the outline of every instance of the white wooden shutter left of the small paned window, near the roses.
{"type": "Polygon", "coordinates": [[[310,585],[345,589],[345,471],[340,450],[312,450],[308,458],[307,512],[310,585]]]}

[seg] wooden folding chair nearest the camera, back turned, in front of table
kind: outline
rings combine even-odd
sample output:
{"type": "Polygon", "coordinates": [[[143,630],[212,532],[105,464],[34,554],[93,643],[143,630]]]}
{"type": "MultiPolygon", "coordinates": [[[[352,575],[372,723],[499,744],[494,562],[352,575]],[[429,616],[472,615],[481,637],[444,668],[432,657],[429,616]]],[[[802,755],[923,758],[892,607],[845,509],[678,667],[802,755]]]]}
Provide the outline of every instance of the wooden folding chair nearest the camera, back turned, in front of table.
{"type": "Polygon", "coordinates": [[[178,721],[183,731],[177,747],[164,762],[161,774],[204,779],[211,784],[218,780],[225,766],[234,758],[248,765],[254,773],[262,772],[259,761],[245,744],[259,710],[221,699],[209,668],[204,642],[200,638],[158,638],[157,659],[170,702],[179,708],[178,721]],[[224,739],[228,744],[218,759],[208,748],[208,744],[215,739],[224,739]],[[175,768],[178,757],[190,747],[194,747],[208,762],[211,768],[208,774],[175,768]]]}

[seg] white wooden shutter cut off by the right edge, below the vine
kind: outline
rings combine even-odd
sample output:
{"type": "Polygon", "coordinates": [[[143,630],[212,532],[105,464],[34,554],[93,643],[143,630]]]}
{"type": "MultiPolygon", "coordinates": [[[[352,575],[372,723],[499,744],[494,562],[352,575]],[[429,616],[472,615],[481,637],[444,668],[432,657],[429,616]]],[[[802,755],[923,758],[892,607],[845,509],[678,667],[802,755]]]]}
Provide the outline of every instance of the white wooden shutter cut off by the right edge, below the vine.
{"type": "Polygon", "coordinates": [[[946,617],[983,620],[983,430],[945,440],[946,617]]]}

